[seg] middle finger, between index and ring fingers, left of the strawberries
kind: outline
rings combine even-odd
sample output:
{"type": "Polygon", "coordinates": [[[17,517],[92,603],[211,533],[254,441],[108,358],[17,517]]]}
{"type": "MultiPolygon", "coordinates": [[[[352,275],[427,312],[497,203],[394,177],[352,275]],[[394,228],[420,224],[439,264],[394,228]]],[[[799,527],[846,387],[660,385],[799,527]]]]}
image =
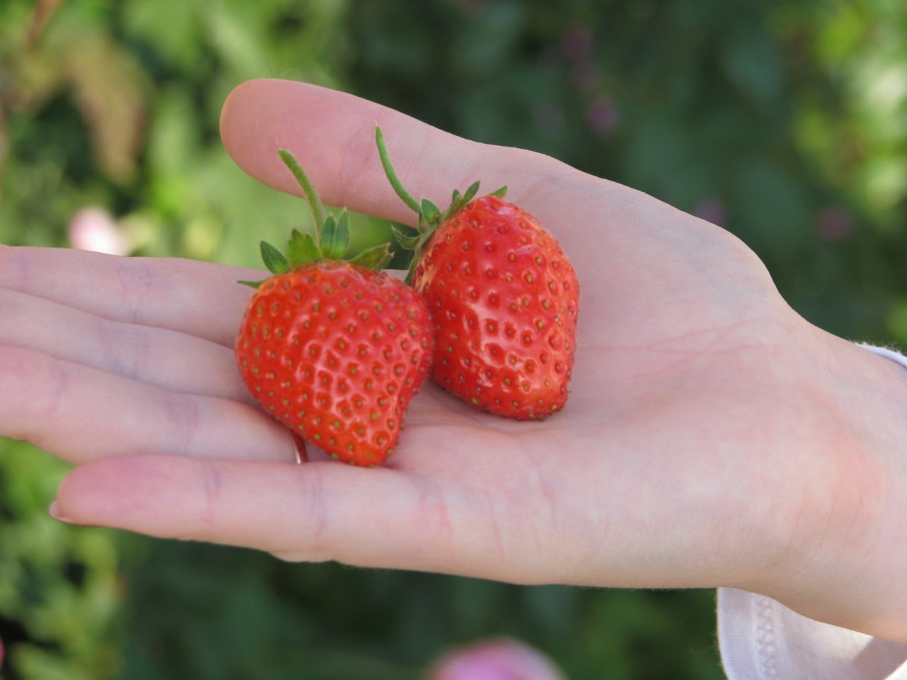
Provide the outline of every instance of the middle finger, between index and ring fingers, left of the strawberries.
{"type": "Polygon", "coordinates": [[[177,331],[110,321],[4,288],[0,345],[28,347],[173,392],[252,403],[229,347],[177,331]]]}

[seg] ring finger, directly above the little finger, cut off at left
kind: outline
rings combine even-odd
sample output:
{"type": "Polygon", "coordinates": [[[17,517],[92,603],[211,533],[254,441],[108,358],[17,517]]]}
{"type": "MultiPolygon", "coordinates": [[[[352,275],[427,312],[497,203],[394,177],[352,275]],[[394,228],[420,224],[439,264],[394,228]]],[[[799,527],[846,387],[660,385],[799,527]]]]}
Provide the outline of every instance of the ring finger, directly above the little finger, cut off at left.
{"type": "Polygon", "coordinates": [[[77,463],[148,452],[293,460],[286,429],[252,406],[10,345],[0,345],[0,435],[77,463]]]}

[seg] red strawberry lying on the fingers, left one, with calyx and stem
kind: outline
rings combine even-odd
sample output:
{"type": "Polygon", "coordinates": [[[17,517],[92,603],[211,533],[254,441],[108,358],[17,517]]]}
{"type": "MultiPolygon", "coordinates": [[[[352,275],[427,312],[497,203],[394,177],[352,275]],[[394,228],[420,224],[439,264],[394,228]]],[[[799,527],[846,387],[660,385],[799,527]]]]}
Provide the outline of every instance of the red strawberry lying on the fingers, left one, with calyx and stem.
{"type": "Polygon", "coordinates": [[[348,216],[327,216],[288,151],[315,235],[293,230],[288,252],[262,242],[274,274],[258,283],[236,344],[242,379],[291,432],[335,458],[371,466],[393,450],[433,346],[424,299],[380,271],[387,245],[342,259],[348,216]]]}

